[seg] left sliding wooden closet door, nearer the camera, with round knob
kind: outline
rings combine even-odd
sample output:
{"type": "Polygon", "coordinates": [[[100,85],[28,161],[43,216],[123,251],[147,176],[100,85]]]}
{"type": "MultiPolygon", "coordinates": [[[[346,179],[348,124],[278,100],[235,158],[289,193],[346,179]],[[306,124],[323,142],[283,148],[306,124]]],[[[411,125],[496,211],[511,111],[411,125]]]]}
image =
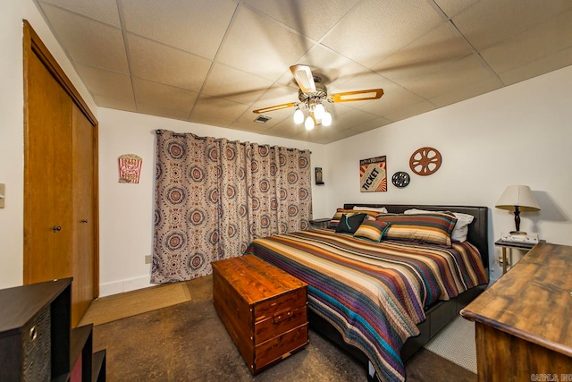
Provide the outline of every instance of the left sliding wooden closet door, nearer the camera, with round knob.
{"type": "Polygon", "coordinates": [[[24,282],[71,276],[71,98],[37,55],[28,60],[24,282]]]}

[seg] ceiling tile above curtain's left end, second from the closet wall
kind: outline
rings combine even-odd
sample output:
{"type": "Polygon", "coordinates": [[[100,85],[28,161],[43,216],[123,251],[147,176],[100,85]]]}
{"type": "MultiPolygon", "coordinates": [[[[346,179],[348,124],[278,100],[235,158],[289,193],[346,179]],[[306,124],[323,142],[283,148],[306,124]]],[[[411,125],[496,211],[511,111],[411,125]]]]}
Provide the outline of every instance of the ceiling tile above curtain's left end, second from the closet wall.
{"type": "MultiPolygon", "coordinates": [[[[183,119],[189,116],[198,93],[190,90],[174,88],[161,83],[133,79],[135,87],[135,98],[137,106],[158,106],[165,109],[171,109],[182,113],[187,113],[183,119]]],[[[181,119],[181,118],[177,118],[181,119]]]]}

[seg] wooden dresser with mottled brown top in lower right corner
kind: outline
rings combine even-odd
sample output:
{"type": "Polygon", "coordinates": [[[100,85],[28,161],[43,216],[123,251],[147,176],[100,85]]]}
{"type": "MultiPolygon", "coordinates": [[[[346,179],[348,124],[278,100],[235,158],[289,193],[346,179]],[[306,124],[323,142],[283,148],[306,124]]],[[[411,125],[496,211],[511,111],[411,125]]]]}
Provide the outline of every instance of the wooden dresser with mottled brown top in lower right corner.
{"type": "Polygon", "coordinates": [[[461,315],[479,381],[572,380],[572,246],[535,245],[461,315]]]}

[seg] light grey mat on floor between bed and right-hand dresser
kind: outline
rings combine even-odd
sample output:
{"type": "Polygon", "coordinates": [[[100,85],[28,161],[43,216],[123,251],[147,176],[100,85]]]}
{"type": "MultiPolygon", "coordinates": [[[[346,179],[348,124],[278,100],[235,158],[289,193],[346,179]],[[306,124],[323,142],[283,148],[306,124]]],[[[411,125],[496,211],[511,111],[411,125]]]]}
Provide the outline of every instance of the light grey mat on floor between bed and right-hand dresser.
{"type": "Polygon", "coordinates": [[[425,344],[425,349],[476,374],[474,322],[458,316],[425,344]]]}

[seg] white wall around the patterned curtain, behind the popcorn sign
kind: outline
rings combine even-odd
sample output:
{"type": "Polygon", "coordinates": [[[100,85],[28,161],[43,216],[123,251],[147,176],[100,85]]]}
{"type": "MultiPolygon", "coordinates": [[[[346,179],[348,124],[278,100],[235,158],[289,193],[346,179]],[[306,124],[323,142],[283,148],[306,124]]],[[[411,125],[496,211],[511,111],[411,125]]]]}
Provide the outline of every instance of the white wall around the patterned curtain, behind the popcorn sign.
{"type": "MultiPolygon", "coordinates": [[[[324,145],[100,108],[99,257],[102,296],[150,285],[150,265],[145,264],[145,255],[151,254],[153,249],[156,129],[310,149],[312,167],[325,166],[324,145]],[[117,157],[122,154],[137,154],[143,158],[139,184],[118,183],[117,157]]],[[[313,186],[312,192],[314,215],[323,216],[327,211],[324,187],[313,186]]]]}

